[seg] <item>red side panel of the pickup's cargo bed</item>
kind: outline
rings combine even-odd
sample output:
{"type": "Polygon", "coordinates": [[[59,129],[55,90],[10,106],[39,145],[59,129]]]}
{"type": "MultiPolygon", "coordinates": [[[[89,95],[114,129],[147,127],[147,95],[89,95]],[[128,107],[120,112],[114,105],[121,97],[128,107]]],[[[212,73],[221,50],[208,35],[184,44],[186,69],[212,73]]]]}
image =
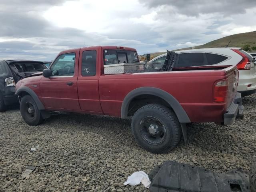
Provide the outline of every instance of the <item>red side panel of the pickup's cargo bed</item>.
{"type": "Polygon", "coordinates": [[[130,91],[155,87],[174,96],[192,122],[221,122],[225,104],[213,102],[213,85],[225,77],[224,70],[102,75],[102,110],[106,115],[120,116],[122,101],[130,91]]]}

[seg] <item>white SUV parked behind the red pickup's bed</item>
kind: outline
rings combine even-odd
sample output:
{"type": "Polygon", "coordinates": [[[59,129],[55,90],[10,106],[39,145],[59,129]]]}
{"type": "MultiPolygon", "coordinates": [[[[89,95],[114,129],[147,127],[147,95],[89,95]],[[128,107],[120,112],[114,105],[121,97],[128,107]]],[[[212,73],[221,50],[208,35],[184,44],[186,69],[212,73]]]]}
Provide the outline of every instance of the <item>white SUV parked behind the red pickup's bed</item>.
{"type": "MultiPolygon", "coordinates": [[[[193,70],[202,66],[205,69],[218,69],[219,66],[236,65],[239,70],[238,91],[242,96],[256,92],[255,59],[241,48],[206,48],[176,51],[177,60],[173,70],[193,70]]],[[[164,62],[166,54],[149,62],[164,62]]]]}

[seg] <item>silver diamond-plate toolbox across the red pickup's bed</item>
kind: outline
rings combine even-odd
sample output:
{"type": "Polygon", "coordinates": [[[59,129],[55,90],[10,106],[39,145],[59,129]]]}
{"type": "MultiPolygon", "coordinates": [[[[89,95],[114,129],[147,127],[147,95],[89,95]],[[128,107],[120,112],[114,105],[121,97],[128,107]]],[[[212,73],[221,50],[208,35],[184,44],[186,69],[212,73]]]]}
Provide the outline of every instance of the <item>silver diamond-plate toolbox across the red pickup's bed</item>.
{"type": "Polygon", "coordinates": [[[158,72],[161,70],[162,66],[162,62],[111,64],[104,65],[104,74],[158,72]]]}

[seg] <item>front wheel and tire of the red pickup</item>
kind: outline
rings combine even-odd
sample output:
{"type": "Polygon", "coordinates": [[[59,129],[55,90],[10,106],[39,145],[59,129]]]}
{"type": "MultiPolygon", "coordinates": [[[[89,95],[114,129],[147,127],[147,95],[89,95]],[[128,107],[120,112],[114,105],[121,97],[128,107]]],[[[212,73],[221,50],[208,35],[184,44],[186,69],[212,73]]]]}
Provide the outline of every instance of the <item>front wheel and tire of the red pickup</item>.
{"type": "Polygon", "coordinates": [[[28,125],[36,126],[42,123],[40,110],[30,95],[22,97],[20,101],[20,114],[28,125]]]}

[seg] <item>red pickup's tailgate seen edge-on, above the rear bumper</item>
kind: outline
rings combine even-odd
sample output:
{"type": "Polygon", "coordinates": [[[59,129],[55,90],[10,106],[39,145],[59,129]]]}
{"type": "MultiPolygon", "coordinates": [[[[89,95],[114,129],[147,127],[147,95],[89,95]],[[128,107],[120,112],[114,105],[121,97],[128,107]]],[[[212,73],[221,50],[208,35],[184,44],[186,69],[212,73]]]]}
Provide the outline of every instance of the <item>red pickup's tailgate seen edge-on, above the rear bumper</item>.
{"type": "Polygon", "coordinates": [[[224,69],[228,76],[228,96],[227,107],[233,102],[236,97],[237,85],[238,85],[238,70],[236,66],[230,66],[224,69]]]}

